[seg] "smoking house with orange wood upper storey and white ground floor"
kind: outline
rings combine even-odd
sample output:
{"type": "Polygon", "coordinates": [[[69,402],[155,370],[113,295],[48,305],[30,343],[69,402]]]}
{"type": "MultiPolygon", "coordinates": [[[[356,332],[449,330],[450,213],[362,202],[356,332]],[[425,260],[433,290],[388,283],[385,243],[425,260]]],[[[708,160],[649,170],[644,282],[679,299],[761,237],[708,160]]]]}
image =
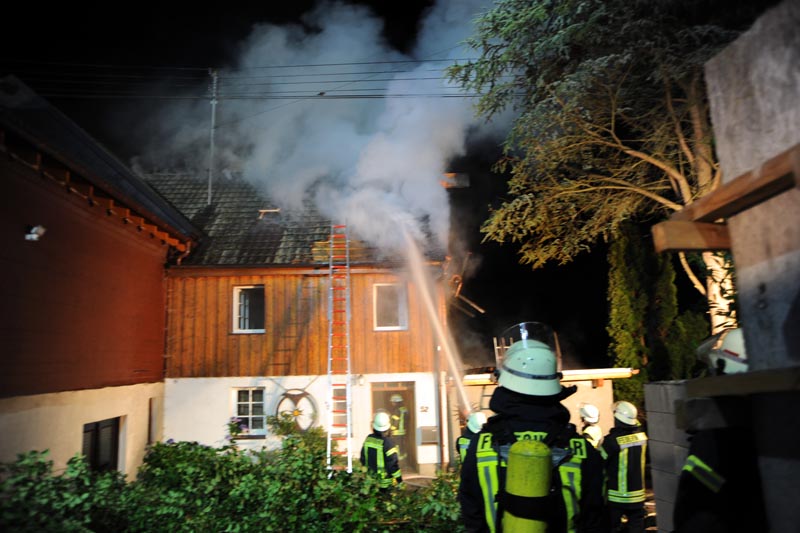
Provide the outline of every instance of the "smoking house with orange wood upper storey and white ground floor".
{"type": "Polygon", "coordinates": [[[395,438],[406,470],[432,474],[448,461],[448,367],[434,325],[445,320],[443,254],[426,255],[439,279],[423,294],[404,258],[311,205],[286,210],[240,177],[146,179],[206,235],[166,271],[165,438],[220,445],[238,418],[238,444],[257,449],[274,444],[266,417],[289,412],[301,428],[349,426],[337,449],[357,458],[383,408],[403,411],[395,438]],[[337,246],[347,264],[333,264],[337,246]],[[347,318],[329,319],[343,299],[347,318]],[[350,368],[337,371],[346,350],[350,368]]]}

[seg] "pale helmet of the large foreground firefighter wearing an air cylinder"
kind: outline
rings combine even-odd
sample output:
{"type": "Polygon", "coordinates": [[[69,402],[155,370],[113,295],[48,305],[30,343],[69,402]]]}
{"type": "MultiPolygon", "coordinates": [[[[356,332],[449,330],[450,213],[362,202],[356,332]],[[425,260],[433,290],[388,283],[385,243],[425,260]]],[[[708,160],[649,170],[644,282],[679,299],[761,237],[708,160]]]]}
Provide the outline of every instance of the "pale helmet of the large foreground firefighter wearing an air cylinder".
{"type": "Polygon", "coordinates": [[[529,396],[558,394],[561,392],[561,372],[556,371],[556,355],[543,342],[517,341],[503,356],[497,383],[529,396]]]}

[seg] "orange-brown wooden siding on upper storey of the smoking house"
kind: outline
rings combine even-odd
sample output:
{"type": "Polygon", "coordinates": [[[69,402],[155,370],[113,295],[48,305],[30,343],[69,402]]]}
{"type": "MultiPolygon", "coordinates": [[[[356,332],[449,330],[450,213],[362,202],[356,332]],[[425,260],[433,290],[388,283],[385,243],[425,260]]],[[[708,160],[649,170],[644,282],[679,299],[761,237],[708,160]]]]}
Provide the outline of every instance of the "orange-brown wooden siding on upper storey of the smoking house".
{"type": "MultiPolygon", "coordinates": [[[[402,279],[389,271],[351,275],[353,374],[434,368],[434,330],[412,284],[408,329],[373,330],[372,286],[396,282],[402,279]]],[[[167,286],[168,377],[327,372],[327,270],[178,267],[168,271],[167,286]],[[232,332],[233,290],[242,285],[264,286],[264,333],[232,332]]]]}

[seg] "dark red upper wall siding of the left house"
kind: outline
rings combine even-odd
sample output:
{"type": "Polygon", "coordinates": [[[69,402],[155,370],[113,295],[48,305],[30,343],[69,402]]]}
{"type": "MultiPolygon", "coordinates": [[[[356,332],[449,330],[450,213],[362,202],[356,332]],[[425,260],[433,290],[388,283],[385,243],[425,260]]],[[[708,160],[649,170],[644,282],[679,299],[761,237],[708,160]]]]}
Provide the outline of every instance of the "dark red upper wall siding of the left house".
{"type": "Polygon", "coordinates": [[[7,157],[0,182],[0,396],[161,381],[167,247],[7,157]]]}

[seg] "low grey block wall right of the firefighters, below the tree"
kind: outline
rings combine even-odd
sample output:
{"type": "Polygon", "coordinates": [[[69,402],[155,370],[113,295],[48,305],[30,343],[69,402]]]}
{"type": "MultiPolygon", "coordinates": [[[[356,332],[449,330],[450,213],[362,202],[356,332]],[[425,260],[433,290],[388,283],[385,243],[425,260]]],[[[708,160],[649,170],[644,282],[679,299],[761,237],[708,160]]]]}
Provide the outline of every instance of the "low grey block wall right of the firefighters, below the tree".
{"type": "Polygon", "coordinates": [[[679,429],[677,406],[686,399],[685,381],[657,381],[644,386],[650,474],[656,501],[658,531],[675,531],[672,516],[678,478],[689,454],[689,436],[679,429]]]}

